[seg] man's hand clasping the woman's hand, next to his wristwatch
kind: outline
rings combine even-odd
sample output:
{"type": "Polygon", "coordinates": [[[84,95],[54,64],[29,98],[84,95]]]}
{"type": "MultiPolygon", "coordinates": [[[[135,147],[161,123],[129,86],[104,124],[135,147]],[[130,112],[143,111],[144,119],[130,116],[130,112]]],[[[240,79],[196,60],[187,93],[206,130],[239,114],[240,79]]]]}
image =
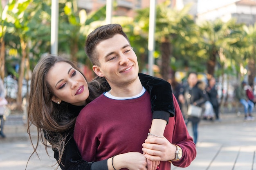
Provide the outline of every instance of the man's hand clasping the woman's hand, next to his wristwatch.
{"type": "Polygon", "coordinates": [[[142,144],[144,156],[151,161],[168,161],[175,159],[176,146],[165,137],[151,137],[142,144]]]}

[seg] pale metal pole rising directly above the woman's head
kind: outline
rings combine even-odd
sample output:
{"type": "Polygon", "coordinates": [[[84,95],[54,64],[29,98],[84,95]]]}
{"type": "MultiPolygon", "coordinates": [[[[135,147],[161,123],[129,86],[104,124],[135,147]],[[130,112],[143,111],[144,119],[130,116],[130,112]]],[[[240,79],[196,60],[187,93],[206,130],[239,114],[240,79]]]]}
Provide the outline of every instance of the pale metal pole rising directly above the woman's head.
{"type": "Polygon", "coordinates": [[[58,54],[58,0],[52,0],[51,53],[58,54]]]}

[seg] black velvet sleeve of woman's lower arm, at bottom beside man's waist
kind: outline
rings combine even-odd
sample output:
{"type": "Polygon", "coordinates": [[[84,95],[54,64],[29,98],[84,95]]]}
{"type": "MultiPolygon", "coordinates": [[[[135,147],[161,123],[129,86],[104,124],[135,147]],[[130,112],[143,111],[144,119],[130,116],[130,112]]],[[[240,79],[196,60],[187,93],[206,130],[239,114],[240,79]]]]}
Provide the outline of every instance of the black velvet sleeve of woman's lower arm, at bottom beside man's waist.
{"type": "MultiPolygon", "coordinates": [[[[54,150],[54,158],[58,161],[59,154],[54,150]]],[[[81,154],[76,146],[74,137],[71,137],[67,142],[64,149],[62,164],[59,166],[62,170],[108,170],[107,159],[97,162],[87,162],[81,157],[81,154]]]]}

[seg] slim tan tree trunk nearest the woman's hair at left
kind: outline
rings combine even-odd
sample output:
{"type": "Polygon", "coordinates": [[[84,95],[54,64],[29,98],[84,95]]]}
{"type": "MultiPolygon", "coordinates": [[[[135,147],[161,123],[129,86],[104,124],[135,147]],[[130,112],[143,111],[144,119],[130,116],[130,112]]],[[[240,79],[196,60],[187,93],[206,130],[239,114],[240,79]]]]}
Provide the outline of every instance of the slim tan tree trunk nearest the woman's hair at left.
{"type": "Polygon", "coordinates": [[[19,79],[18,79],[18,94],[17,94],[17,109],[22,108],[22,81],[24,78],[24,72],[25,72],[25,59],[27,56],[26,47],[27,43],[24,41],[24,39],[20,39],[20,45],[22,50],[22,57],[20,61],[20,72],[19,72],[19,79]]]}

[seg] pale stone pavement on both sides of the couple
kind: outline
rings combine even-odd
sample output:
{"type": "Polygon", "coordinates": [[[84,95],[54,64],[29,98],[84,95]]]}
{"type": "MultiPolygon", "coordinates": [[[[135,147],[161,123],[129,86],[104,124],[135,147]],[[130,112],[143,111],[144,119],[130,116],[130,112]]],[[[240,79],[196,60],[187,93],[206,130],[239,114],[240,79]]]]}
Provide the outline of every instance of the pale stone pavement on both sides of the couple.
{"type": "MultiPolygon", "coordinates": [[[[33,152],[26,121],[22,117],[22,114],[7,117],[4,127],[7,137],[0,138],[0,170],[24,170],[33,152]]],[[[223,113],[220,117],[220,122],[200,122],[197,157],[189,167],[172,166],[172,170],[256,170],[256,120],[244,121],[243,114],[235,112],[223,113]]],[[[188,124],[188,130],[192,135],[191,124],[188,124]]],[[[35,134],[35,142],[36,129],[32,132],[35,134]]],[[[41,144],[39,149],[40,160],[33,155],[27,170],[54,170],[54,158],[47,156],[41,144]]],[[[51,148],[48,151],[52,156],[51,148]]]]}

